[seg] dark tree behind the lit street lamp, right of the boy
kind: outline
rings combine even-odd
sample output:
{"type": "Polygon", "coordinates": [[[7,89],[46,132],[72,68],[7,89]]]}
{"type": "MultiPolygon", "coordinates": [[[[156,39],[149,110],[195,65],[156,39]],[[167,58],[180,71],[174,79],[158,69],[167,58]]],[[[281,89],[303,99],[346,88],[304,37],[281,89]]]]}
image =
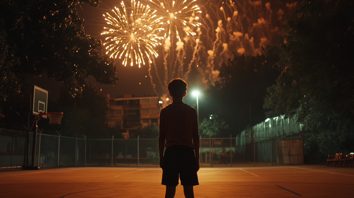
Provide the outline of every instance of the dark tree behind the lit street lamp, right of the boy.
{"type": "Polygon", "coordinates": [[[266,90],[279,75],[274,67],[279,60],[276,51],[277,47],[267,46],[257,56],[234,55],[221,66],[221,80],[207,89],[209,103],[201,109],[209,109],[222,118],[230,126],[232,135],[264,121],[266,90]]]}

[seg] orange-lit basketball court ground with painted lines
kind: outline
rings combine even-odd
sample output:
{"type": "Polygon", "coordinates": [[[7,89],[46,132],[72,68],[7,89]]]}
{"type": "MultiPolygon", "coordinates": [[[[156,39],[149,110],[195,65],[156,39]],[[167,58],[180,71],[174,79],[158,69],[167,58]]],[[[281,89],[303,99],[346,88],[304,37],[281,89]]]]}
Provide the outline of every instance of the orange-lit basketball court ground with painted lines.
{"type": "MultiPolygon", "coordinates": [[[[0,171],[0,197],[164,197],[160,168],[74,167],[0,171]]],[[[198,171],[196,198],[354,197],[354,168],[218,167],[198,171]]],[[[177,186],[176,198],[183,187],[177,186]]]]}

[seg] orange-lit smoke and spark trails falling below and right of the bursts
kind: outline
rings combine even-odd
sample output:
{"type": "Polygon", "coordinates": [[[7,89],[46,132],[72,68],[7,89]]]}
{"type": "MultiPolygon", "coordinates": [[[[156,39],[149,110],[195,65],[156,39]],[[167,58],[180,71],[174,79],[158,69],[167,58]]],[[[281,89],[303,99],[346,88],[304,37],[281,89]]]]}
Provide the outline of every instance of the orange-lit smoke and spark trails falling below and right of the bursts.
{"type": "Polygon", "coordinates": [[[156,76],[163,76],[163,81],[155,79],[165,97],[167,84],[173,78],[193,79],[207,88],[218,80],[221,65],[234,54],[254,56],[262,52],[262,47],[277,45],[285,34],[280,28],[285,15],[292,17],[296,6],[296,2],[288,1],[283,5],[277,0],[197,0],[199,18],[197,13],[190,14],[191,20],[198,19],[201,25],[183,26],[182,32],[194,34],[165,38],[160,61],[163,64],[154,67],[156,76]]]}

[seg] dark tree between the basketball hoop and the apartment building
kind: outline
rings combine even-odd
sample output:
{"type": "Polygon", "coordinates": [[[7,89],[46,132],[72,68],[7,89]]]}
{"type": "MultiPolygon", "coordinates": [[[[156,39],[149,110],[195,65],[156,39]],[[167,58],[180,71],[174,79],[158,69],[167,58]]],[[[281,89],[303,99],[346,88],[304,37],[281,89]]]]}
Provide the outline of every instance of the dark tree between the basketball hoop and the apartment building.
{"type": "Polygon", "coordinates": [[[119,129],[107,126],[108,101],[93,86],[85,86],[80,96],[75,98],[63,90],[51,109],[64,114],[59,126],[50,125],[48,120],[42,119],[41,126],[46,132],[53,133],[57,130],[61,135],[67,136],[112,138],[114,135],[122,138],[119,129]]]}

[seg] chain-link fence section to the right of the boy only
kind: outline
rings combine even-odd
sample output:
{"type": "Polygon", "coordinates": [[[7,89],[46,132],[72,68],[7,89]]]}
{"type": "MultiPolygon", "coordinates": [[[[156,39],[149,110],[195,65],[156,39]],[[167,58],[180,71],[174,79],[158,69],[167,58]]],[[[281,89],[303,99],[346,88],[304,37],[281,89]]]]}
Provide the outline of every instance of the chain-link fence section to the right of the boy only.
{"type": "Polygon", "coordinates": [[[201,138],[200,165],[303,164],[301,137],[201,138]]]}

